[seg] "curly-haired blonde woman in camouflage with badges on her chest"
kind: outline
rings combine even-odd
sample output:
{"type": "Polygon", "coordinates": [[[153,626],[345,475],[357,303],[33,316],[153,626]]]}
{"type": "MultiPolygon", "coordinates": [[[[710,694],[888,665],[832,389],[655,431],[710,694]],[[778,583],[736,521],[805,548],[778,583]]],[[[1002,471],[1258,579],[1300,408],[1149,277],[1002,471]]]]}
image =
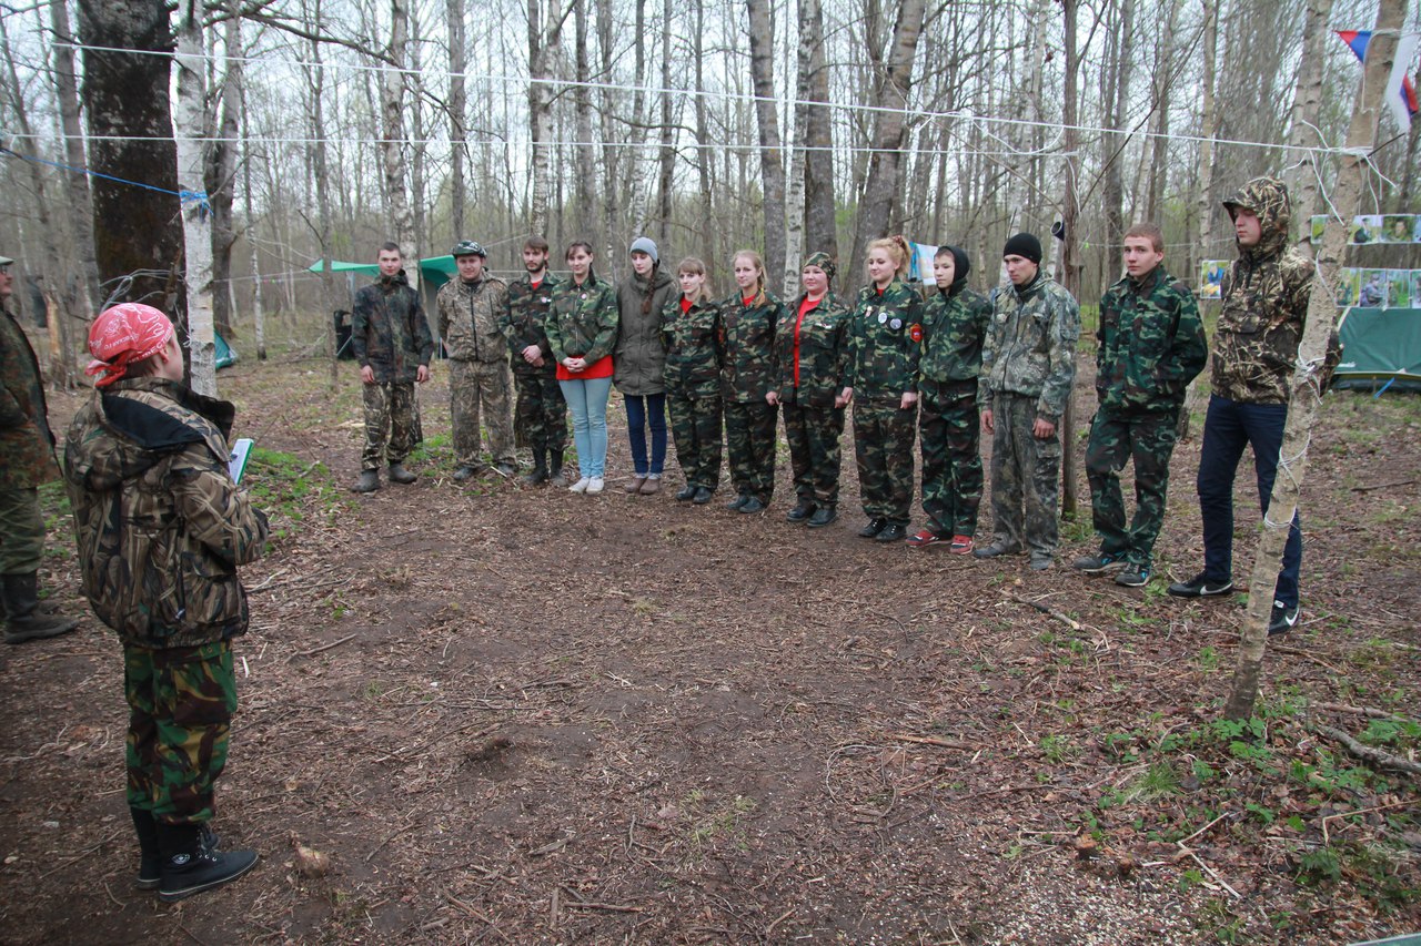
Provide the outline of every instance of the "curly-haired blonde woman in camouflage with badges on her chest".
{"type": "Polygon", "coordinates": [[[902,281],[911,253],[901,236],[868,244],[870,284],[858,290],[848,330],[854,459],[868,524],[864,538],[899,541],[912,510],[912,442],[918,435],[922,298],[902,281]]]}

